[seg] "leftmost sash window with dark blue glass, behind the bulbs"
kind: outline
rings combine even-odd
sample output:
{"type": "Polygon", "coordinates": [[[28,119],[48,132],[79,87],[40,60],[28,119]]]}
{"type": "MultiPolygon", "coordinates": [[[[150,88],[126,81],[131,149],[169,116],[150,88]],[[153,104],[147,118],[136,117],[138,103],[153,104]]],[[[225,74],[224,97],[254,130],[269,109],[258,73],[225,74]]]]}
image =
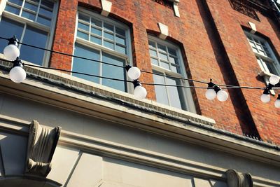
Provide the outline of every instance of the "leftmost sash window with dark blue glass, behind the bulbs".
{"type": "MultiPolygon", "coordinates": [[[[56,4],[52,0],[8,0],[1,15],[0,36],[15,36],[22,43],[50,48],[56,18],[56,4]]],[[[3,51],[7,43],[0,43],[3,51]]],[[[48,55],[43,50],[20,45],[20,58],[38,65],[47,65],[48,55]]]]}

